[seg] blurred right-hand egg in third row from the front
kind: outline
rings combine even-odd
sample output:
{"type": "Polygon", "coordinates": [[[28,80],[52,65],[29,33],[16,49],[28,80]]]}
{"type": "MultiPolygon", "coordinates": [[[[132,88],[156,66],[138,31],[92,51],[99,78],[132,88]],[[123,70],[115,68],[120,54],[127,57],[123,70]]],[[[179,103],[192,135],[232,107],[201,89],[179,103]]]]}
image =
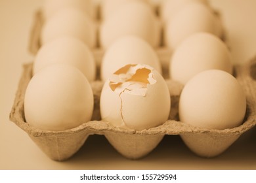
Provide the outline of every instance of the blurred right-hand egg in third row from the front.
{"type": "Polygon", "coordinates": [[[188,3],[173,16],[165,27],[165,44],[175,49],[190,35],[207,32],[217,35],[221,33],[219,18],[202,3],[188,3]]]}

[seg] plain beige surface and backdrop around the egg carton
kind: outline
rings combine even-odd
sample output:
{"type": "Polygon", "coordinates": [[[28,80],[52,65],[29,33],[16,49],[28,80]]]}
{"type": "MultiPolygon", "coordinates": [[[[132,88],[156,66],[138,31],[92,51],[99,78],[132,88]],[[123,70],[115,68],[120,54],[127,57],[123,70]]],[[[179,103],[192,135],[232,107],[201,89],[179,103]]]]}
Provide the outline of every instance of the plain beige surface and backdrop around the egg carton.
{"type": "MultiPolygon", "coordinates": [[[[156,1],[156,0],[155,0],[156,1]]],[[[256,54],[256,1],[212,0],[221,10],[234,63],[256,54]]],[[[102,136],[92,136],[71,159],[53,161],[28,135],[9,121],[22,64],[32,61],[28,40],[39,0],[0,0],[0,169],[256,169],[256,129],[247,131],[217,158],[195,156],[179,136],[165,136],[143,159],[119,155],[102,136]]]]}

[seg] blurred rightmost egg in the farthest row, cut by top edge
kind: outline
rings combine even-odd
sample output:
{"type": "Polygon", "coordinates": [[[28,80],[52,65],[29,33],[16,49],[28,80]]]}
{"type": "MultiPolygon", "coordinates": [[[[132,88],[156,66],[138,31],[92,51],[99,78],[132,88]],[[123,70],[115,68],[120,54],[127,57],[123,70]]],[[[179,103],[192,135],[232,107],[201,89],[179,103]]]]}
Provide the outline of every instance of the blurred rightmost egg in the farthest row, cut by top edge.
{"type": "Polygon", "coordinates": [[[163,22],[168,22],[182,7],[188,3],[198,2],[208,6],[207,0],[163,0],[160,1],[160,16],[163,22]]]}

